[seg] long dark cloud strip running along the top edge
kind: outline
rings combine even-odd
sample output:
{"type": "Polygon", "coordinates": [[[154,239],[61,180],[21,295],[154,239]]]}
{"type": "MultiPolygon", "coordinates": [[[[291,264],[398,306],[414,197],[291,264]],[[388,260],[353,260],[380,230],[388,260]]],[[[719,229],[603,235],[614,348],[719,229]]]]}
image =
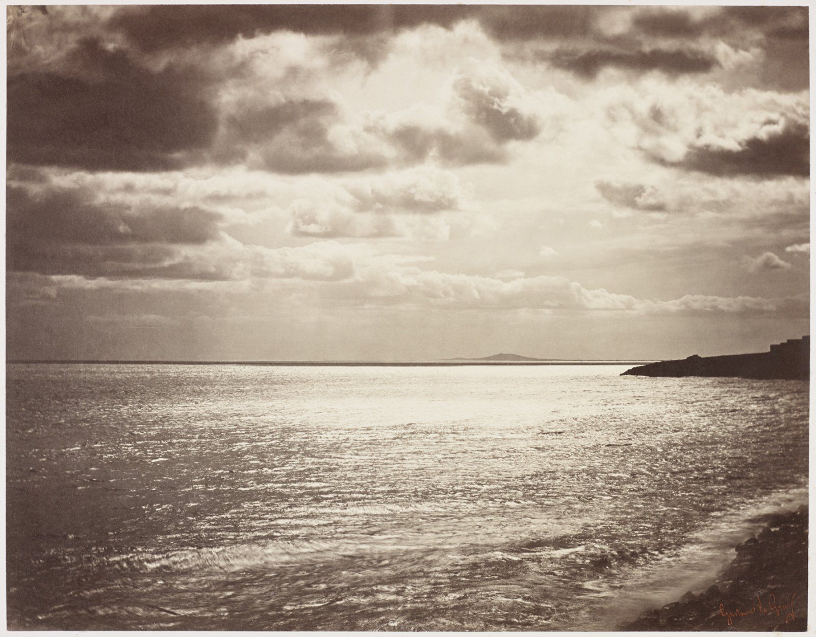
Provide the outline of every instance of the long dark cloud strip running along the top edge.
{"type": "MultiPolygon", "coordinates": [[[[229,42],[237,36],[290,30],[371,35],[421,24],[450,28],[478,20],[496,39],[603,38],[599,21],[615,7],[468,5],[218,5],[122,7],[109,22],[145,51],[229,42]]],[[[805,7],[722,7],[694,19],[683,10],[637,9],[631,38],[730,36],[746,29],[772,38],[807,39],[805,7]]]]}

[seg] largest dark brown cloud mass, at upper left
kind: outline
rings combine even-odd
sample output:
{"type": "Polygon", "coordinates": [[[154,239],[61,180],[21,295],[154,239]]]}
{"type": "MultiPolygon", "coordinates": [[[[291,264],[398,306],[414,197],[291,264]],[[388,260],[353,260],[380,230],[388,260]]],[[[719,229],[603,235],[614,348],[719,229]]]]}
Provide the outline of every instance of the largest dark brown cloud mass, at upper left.
{"type": "Polygon", "coordinates": [[[9,160],[168,170],[215,136],[217,118],[197,69],[171,65],[155,73],[93,39],[69,51],[64,69],[8,77],[9,160]]]}

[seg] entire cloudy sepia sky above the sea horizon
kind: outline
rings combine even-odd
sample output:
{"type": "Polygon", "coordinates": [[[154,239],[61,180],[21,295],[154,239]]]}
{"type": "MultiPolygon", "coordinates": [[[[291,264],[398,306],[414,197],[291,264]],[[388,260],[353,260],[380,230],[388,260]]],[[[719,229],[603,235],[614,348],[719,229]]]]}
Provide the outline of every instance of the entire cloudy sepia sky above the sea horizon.
{"type": "Polygon", "coordinates": [[[805,7],[9,7],[11,358],[808,333],[805,7]]]}

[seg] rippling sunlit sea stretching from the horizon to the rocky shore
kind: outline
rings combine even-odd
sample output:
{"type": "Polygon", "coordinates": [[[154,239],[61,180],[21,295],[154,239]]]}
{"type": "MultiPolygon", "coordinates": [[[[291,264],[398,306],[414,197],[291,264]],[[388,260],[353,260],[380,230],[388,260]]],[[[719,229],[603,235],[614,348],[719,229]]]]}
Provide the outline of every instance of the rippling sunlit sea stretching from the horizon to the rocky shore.
{"type": "Polygon", "coordinates": [[[7,365],[16,628],[613,630],[806,502],[808,384],[7,365]]]}

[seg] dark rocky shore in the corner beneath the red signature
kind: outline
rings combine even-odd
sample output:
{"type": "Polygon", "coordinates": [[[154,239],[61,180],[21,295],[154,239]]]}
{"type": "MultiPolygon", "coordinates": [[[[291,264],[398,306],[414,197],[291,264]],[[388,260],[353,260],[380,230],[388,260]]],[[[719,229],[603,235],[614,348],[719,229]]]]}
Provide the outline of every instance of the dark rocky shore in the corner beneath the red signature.
{"type": "Polygon", "coordinates": [[[705,591],[687,592],[619,630],[807,629],[808,509],[764,516],[765,529],[705,591]]]}

